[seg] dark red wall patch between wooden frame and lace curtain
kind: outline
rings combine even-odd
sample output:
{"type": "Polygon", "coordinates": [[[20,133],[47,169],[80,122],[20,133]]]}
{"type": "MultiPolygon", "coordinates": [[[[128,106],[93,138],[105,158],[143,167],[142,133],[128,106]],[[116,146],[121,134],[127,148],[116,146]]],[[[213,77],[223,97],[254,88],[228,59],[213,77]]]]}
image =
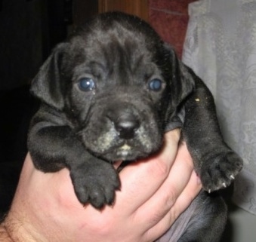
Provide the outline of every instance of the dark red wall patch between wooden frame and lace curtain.
{"type": "Polygon", "coordinates": [[[172,44],[179,57],[189,20],[187,6],[195,0],[149,0],[150,23],[164,41],[172,44]]]}

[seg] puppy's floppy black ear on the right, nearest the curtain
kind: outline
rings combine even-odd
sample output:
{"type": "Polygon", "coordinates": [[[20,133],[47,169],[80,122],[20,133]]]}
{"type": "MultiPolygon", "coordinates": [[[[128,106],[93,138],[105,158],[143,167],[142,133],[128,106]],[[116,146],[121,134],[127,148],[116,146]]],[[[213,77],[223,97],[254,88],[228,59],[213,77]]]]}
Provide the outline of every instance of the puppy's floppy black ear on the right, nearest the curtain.
{"type": "Polygon", "coordinates": [[[190,93],[193,92],[196,84],[193,71],[184,65],[178,58],[174,49],[165,44],[171,59],[171,102],[172,106],[179,106],[190,93]]]}

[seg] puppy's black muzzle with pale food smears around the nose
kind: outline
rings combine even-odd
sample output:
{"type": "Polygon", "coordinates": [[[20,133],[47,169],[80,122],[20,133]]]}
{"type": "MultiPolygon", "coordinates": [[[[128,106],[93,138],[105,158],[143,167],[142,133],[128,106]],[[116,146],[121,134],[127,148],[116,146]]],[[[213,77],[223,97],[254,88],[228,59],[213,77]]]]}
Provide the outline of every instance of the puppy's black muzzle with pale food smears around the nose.
{"type": "Polygon", "coordinates": [[[88,150],[108,161],[131,161],[155,152],[162,141],[156,117],[149,106],[136,102],[99,103],[103,112],[91,113],[81,132],[88,150]]]}

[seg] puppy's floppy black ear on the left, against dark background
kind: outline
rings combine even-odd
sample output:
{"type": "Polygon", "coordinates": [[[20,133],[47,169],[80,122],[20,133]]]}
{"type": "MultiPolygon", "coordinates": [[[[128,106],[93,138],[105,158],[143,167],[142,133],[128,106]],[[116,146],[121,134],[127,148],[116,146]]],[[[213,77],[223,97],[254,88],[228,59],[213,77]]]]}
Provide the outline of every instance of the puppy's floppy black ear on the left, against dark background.
{"type": "Polygon", "coordinates": [[[30,92],[43,103],[55,109],[63,109],[63,81],[60,78],[60,65],[68,43],[62,43],[55,47],[48,60],[45,61],[39,73],[32,80],[30,92]]]}

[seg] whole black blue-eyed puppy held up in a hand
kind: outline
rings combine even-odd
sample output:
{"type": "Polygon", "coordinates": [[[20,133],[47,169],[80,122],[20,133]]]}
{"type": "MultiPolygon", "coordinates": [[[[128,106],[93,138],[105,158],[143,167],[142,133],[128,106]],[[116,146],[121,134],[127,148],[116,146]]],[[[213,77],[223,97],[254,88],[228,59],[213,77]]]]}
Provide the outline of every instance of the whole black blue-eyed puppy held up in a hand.
{"type": "MultiPolygon", "coordinates": [[[[175,127],[206,191],[230,185],[242,168],[221,136],[205,84],[137,17],[108,13],[88,21],[54,49],[31,91],[42,101],[28,140],[35,167],[68,167],[82,204],[113,204],[120,186],[113,162],[157,152],[175,127]]],[[[202,192],[194,204],[179,241],[217,240],[224,203],[202,192]]]]}

